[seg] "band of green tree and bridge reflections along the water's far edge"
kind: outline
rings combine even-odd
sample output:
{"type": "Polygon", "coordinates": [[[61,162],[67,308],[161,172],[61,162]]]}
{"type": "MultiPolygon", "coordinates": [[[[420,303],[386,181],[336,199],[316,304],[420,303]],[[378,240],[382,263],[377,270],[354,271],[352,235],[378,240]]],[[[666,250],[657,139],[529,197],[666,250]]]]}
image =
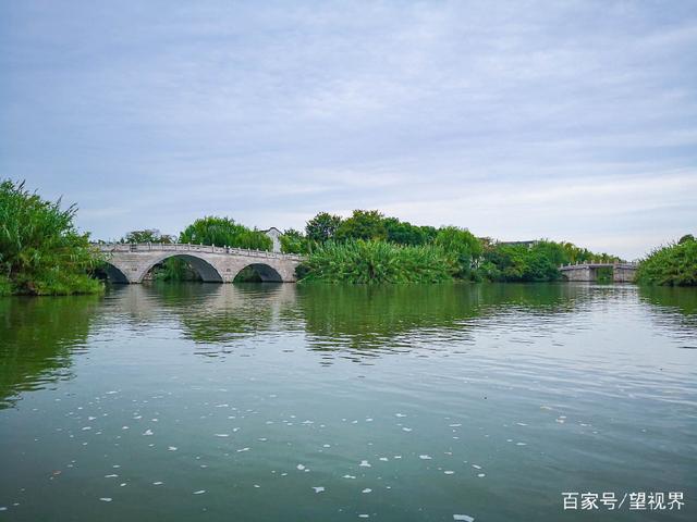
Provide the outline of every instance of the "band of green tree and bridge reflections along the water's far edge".
{"type": "Polygon", "coordinates": [[[189,339],[197,353],[213,357],[244,339],[264,336],[272,343],[297,335],[307,349],[326,353],[323,363],[334,356],[365,361],[455,345],[466,350],[478,330],[505,327],[508,318],[517,328],[529,323],[541,331],[546,318],[567,314],[572,321],[616,299],[646,308],[682,347],[697,347],[697,290],[692,288],[185,284],[120,287],[105,298],[5,298],[0,299],[0,400],[8,406],[20,391],[69,378],[71,355],[87,346],[90,331],[109,339],[166,328],[167,336],[189,339]],[[525,314],[535,321],[522,320],[525,314]]]}

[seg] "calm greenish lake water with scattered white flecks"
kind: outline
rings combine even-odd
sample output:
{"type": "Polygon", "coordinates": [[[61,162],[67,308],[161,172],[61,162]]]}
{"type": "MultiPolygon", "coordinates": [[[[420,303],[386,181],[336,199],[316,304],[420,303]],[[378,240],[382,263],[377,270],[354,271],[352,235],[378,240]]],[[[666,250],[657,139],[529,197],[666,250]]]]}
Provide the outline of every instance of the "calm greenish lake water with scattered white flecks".
{"type": "Polygon", "coordinates": [[[696,520],[696,376],[695,289],[0,299],[0,521],[696,520]]]}

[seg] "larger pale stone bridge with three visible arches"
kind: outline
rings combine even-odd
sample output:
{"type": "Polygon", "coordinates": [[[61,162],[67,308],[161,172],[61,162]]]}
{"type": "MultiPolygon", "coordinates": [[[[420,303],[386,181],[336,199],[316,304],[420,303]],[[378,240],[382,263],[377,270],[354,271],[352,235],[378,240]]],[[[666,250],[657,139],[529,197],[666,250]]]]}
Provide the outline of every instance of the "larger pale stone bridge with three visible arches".
{"type": "Polygon", "coordinates": [[[232,283],[235,276],[252,266],[265,282],[294,283],[301,256],[188,244],[100,244],[107,275],[114,283],[143,283],[146,274],[168,258],[187,261],[204,282],[232,283]]]}

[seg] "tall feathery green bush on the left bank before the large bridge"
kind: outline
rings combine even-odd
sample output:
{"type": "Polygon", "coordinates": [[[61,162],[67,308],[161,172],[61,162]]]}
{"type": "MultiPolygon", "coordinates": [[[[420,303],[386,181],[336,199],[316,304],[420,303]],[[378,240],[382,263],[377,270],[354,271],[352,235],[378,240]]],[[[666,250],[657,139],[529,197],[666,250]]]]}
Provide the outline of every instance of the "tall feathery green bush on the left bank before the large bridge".
{"type": "Polygon", "coordinates": [[[24,188],[24,183],[0,184],[1,291],[36,295],[90,294],[102,285],[88,275],[99,261],[87,234],[73,219],[75,206],[61,209],[24,188]]]}

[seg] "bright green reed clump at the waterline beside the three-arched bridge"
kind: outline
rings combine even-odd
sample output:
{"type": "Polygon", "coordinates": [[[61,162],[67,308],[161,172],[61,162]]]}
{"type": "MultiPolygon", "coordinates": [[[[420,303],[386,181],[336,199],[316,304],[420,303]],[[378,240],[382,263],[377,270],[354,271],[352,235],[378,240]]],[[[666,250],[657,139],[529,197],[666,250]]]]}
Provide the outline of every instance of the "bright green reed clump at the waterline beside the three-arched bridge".
{"type": "Polygon", "coordinates": [[[302,269],[303,282],[438,283],[456,271],[442,249],[405,247],[376,240],[328,241],[313,250],[302,269]]]}

